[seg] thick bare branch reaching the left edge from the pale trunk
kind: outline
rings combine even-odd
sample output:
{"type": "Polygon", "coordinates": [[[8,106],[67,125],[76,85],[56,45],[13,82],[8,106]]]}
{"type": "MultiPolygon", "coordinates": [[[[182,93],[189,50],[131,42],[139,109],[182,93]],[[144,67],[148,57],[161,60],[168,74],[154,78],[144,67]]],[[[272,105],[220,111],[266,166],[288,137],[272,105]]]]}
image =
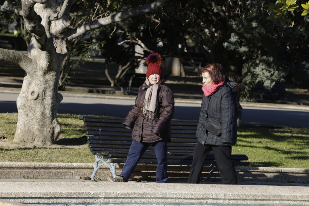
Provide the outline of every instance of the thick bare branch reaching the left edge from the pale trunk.
{"type": "Polygon", "coordinates": [[[21,52],[0,48],[0,61],[18,65],[22,67],[28,75],[32,75],[35,72],[35,66],[32,65],[32,60],[21,52]]]}

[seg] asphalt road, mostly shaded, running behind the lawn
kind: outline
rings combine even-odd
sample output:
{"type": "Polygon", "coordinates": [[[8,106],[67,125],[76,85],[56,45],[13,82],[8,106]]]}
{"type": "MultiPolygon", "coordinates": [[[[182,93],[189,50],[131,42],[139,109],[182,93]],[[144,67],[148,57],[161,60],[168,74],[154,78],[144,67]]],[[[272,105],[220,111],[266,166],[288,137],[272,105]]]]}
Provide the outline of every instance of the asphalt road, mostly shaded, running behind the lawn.
{"type": "MultiPolygon", "coordinates": [[[[18,94],[0,93],[0,112],[17,112],[18,94]]],[[[64,96],[58,113],[125,117],[134,100],[99,99],[64,96]]],[[[175,103],[173,119],[198,120],[200,104],[175,103]]],[[[243,108],[243,125],[309,127],[309,111],[243,108]]]]}

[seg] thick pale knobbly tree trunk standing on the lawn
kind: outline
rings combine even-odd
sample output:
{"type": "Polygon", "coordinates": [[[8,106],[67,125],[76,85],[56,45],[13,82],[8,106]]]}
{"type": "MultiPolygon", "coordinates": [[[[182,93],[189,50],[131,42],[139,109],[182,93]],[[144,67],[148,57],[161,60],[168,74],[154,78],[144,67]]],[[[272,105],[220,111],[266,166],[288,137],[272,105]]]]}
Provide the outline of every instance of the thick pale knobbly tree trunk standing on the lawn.
{"type": "MultiPolygon", "coordinates": [[[[35,45],[33,38],[31,43],[35,45]]],[[[13,141],[51,145],[61,131],[56,114],[62,100],[58,93],[62,58],[56,52],[38,50],[31,48],[29,52],[37,72],[25,76],[17,98],[18,121],[13,141]]]]}

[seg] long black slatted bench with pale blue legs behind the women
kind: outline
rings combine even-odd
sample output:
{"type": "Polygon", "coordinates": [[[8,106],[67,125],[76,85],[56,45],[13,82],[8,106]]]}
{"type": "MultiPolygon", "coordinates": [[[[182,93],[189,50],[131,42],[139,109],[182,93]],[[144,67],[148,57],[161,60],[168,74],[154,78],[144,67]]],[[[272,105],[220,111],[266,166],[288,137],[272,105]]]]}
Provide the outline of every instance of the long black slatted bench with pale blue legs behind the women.
{"type": "MultiPolygon", "coordinates": [[[[84,121],[88,145],[92,154],[96,156],[94,171],[91,175],[93,180],[96,172],[102,165],[110,168],[113,177],[116,176],[116,164],[125,163],[129,148],[132,142],[132,130],[125,129],[122,125],[124,119],[79,116],[84,121]],[[101,164],[98,164],[102,161],[101,164]]],[[[198,121],[194,120],[172,120],[171,121],[171,142],[168,142],[168,164],[169,165],[191,165],[193,150],[197,142],[195,136],[198,121]]],[[[248,157],[245,154],[233,154],[231,156],[234,165],[249,165],[248,157]]],[[[157,163],[152,146],[148,148],[139,164],[157,163]]],[[[204,164],[210,164],[210,173],[218,169],[213,154],[208,154],[204,164]],[[216,166],[214,166],[216,165],[216,166]]]]}

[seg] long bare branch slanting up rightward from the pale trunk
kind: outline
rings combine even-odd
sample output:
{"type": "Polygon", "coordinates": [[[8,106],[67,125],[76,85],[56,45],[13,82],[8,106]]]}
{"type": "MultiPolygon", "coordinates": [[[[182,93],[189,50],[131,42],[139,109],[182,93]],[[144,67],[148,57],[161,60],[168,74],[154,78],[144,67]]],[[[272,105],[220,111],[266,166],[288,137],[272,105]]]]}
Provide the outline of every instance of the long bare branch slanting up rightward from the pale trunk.
{"type": "Polygon", "coordinates": [[[113,14],[108,17],[104,17],[104,18],[100,18],[100,19],[88,22],[76,29],[70,29],[68,32],[68,40],[72,40],[76,37],[79,37],[83,33],[90,31],[92,29],[101,28],[111,23],[120,22],[130,17],[135,17],[137,15],[151,12],[159,8],[166,1],[168,0],[156,0],[153,3],[149,3],[144,6],[139,6],[136,8],[129,9],[128,11],[125,11],[125,12],[120,12],[120,13],[113,14]]]}

